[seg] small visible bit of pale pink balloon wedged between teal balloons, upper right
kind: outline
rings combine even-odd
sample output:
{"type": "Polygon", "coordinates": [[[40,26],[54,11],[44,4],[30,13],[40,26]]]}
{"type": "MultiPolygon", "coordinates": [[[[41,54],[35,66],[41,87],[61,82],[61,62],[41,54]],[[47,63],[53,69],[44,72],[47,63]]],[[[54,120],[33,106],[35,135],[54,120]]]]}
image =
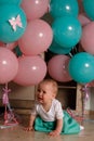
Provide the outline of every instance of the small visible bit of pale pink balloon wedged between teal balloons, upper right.
{"type": "Polygon", "coordinates": [[[82,26],[85,26],[91,22],[91,20],[89,17],[86,17],[86,15],[84,13],[79,14],[78,20],[80,21],[82,26]]]}

